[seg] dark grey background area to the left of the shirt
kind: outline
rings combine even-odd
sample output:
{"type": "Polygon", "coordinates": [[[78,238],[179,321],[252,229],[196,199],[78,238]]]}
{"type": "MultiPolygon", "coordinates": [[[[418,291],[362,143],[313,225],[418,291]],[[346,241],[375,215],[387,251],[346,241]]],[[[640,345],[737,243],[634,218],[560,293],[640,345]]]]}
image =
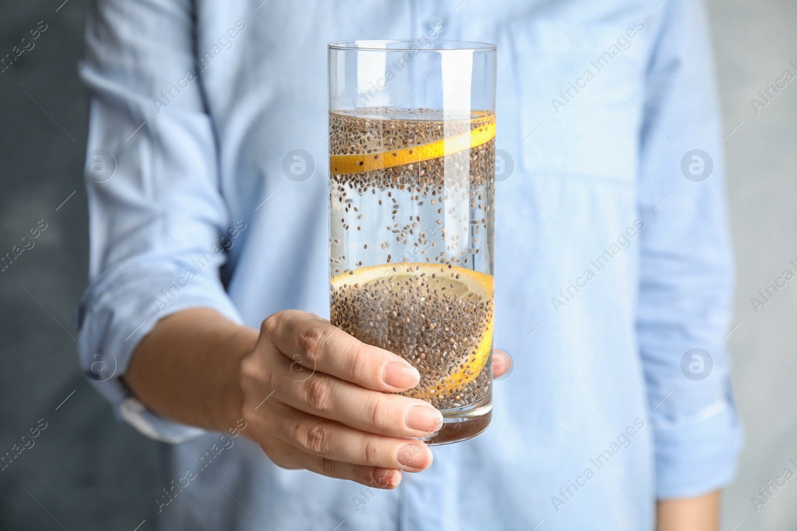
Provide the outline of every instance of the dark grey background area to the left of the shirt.
{"type": "Polygon", "coordinates": [[[143,531],[154,529],[158,445],[114,420],[80,373],[73,341],[88,274],[87,101],[77,62],[89,2],[63,1],[0,7],[2,57],[47,24],[33,49],[0,73],[0,254],[47,223],[34,247],[0,272],[0,452],[38,420],[47,423],[0,472],[0,529],[61,529],[59,522],[70,531],[132,531],[146,519],[143,531]]]}

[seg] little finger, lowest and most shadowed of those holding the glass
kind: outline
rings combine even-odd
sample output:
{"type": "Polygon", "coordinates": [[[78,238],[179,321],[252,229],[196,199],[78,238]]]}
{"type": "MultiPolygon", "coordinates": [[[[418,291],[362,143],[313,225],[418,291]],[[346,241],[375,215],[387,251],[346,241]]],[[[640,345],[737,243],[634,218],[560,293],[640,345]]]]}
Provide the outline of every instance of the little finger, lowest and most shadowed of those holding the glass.
{"type": "Polygon", "coordinates": [[[271,440],[264,445],[263,449],[267,451],[269,458],[278,467],[288,469],[305,468],[329,478],[348,479],[365,486],[385,490],[395,489],[402,479],[401,470],[333,461],[318,455],[308,454],[280,439],[269,439],[271,440]]]}

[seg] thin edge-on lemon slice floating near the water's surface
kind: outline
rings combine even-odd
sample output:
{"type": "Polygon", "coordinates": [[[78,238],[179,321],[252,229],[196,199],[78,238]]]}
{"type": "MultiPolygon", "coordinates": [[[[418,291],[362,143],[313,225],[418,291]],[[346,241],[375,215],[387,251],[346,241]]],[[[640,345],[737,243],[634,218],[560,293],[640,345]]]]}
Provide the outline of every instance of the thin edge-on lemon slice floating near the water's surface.
{"type": "Polygon", "coordinates": [[[367,154],[331,154],[329,155],[329,173],[357,174],[445,157],[446,155],[459,153],[462,150],[481,146],[481,144],[487,143],[495,137],[495,115],[490,115],[488,119],[480,117],[471,121],[480,121],[484,122],[484,124],[478,129],[472,129],[470,133],[462,133],[437,142],[406,147],[402,150],[379,151],[367,154]]]}

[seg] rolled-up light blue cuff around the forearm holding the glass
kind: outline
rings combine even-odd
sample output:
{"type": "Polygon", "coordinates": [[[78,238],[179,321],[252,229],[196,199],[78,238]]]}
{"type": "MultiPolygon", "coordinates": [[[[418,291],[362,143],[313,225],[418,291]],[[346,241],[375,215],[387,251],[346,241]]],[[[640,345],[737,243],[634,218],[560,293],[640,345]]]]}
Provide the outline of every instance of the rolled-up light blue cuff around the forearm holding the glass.
{"type": "Polygon", "coordinates": [[[141,339],[160,319],[190,308],[218,311],[241,323],[217,270],[194,264],[139,263],[101,275],[84,295],[77,314],[80,365],[90,383],[114,407],[116,417],[150,439],[181,443],[204,433],[144,408],[120,377],[141,339]]]}

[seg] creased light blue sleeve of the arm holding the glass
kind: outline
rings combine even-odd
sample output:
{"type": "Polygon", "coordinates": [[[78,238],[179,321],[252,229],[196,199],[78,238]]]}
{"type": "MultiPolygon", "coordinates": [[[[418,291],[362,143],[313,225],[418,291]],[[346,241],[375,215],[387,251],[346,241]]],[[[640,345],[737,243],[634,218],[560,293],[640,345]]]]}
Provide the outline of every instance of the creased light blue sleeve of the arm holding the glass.
{"type": "Polygon", "coordinates": [[[241,322],[219,268],[245,228],[229,219],[194,64],[190,0],[99,0],[80,76],[91,97],[85,183],[90,285],[78,310],[92,384],[144,435],[202,433],[147,411],[120,381],[160,318],[207,307],[241,322]]]}

